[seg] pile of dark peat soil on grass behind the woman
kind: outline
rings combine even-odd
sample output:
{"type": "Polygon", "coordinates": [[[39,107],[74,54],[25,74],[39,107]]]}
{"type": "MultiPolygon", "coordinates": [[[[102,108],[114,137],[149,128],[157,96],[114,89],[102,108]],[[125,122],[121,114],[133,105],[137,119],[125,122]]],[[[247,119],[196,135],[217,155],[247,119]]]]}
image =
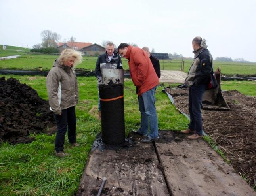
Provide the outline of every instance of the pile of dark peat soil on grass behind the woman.
{"type": "Polygon", "coordinates": [[[34,140],[29,133],[46,132],[53,125],[49,104],[36,90],[15,78],[0,78],[0,141],[29,143],[34,140]]]}

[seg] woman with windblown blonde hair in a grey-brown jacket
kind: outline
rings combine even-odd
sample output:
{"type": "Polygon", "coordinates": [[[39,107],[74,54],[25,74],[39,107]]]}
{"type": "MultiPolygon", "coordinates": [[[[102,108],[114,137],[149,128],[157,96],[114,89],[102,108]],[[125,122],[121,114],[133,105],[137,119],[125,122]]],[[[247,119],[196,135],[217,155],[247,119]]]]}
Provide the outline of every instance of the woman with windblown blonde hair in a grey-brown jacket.
{"type": "Polygon", "coordinates": [[[73,49],[65,49],[59,58],[53,62],[53,68],[46,77],[50,110],[53,111],[57,124],[55,154],[59,157],[67,155],[63,151],[67,130],[71,145],[79,146],[76,143],[75,112],[79,94],[74,67],[80,64],[82,59],[82,53],[73,49]]]}

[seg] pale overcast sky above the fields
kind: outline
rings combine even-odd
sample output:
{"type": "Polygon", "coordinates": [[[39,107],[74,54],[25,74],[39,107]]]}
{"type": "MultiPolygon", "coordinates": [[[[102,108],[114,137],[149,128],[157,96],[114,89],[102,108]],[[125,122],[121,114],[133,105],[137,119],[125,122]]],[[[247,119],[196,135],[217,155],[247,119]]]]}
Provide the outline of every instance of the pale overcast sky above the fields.
{"type": "Polygon", "coordinates": [[[206,39],[214,58],[256,62],[256,0],[0,0],[0,44],[30,47],[51,30],[61,40],[136,43],[193,57],[206,39]]]}

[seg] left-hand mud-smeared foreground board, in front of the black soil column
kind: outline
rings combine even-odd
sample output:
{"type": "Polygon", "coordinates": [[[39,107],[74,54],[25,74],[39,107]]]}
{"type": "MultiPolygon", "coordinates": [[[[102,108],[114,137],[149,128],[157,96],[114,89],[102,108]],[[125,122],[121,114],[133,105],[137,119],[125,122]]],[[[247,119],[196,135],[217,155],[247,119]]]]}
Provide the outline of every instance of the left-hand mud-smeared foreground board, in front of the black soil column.
{"type": "Polygon", "coordinates": [[[77,196],[97,195],[103,177],[107,181],[101,195],[169,195],[152,143],[141,143],[141,137],[132,133],[128,141],[133,143],[125,147],[102,145],[97,139],[98,147],[94,145],[90,154],[77,196]]]}

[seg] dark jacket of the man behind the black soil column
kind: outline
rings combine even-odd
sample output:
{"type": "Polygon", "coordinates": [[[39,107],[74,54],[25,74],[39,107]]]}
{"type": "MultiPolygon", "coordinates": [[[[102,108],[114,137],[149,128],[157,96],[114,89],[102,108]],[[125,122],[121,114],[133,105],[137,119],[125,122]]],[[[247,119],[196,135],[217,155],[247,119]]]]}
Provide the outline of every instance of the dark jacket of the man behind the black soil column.
{"type": "Polygon", "coordinates": [[[114,57],[107,57],[107,51],[101,55],[99,55],[96,66],[95,66],[95,75],[98,80],[98,83],[102,83],[102,69],[122,69],[122,60],[121,56],[118,53],[114,52],[114,57]]]}

